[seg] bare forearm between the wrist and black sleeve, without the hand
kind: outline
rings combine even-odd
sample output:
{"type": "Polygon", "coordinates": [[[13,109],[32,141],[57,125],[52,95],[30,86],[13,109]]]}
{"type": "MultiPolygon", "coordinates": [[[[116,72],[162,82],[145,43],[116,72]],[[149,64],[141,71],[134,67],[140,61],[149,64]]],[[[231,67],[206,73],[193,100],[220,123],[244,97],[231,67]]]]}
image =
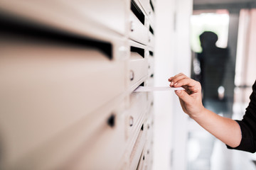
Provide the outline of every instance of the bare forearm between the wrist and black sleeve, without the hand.
{"type": "Polygon", "coordinates": [[[242,135],[240,126],[235,120],[224,118],[206,108],[203,109],[203,113],[191,118],[226,145],[230,147],[240,145],[242,135]]]}

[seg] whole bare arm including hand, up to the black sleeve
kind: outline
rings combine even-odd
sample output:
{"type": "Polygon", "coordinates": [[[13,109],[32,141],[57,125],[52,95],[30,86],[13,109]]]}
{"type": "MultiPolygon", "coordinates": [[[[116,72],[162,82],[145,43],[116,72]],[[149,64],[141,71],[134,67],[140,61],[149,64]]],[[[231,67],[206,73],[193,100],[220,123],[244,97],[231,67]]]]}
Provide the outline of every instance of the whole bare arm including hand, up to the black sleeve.
{"type": "Polygon", "coordinates": [[[198,81],[190,79],[184,74],[177,74],[169,81],[171,87],[182,86],[186,89],[185,91],[176,91],[185,113],[226,145],[230,147],[240,145],[242,139],[240,126],[235,120],[224,118],[203,107],[201,84],[198,81]]]}

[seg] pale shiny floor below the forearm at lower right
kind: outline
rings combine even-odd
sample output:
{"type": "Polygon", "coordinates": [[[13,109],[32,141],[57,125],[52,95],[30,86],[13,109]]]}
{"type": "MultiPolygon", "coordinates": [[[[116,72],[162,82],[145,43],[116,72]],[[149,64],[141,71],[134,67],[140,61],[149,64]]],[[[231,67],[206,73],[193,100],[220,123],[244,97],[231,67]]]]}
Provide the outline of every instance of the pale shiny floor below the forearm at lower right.
{"type": "Polygon", "coordinates": [[[253,154],[227,147],[205,130],[191,132],[188,140],[188,170],[254,170],[253,154]]]}

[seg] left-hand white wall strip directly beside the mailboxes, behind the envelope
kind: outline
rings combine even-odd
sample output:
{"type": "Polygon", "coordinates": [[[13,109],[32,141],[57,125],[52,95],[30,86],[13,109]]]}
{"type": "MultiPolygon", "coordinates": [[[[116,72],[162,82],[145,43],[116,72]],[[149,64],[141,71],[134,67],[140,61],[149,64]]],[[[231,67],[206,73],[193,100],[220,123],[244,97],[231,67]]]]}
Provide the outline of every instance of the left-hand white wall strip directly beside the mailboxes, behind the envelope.
{"type": "MultiPolygon", "coordinates": [[[[169,86],[174,70],[174,1],[156,1],[155,86],[169,86]]],[[[153,169],[171,169],[171,91],[154,93],[153,169]]]]}

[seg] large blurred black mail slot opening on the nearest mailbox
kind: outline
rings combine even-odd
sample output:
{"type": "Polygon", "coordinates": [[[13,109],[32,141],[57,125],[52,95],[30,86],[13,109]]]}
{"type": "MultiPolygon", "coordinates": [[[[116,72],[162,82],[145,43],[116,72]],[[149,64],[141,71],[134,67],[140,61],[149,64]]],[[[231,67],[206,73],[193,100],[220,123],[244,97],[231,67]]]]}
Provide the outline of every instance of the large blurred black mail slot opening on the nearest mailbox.
{"type": "Polygon", "coordinates": [[[14,35],[17,38],[26,40],[35,40],[57,45],[68,45],[71,47],[81,47],[87,49],[99,50],[104,53],[107,58],[112,60],[112,44],[102,40],[87,38],[65,30],[45,26],[40,23],[33,23],[25,19],[0,15],[2,34],[14,35]]]}

